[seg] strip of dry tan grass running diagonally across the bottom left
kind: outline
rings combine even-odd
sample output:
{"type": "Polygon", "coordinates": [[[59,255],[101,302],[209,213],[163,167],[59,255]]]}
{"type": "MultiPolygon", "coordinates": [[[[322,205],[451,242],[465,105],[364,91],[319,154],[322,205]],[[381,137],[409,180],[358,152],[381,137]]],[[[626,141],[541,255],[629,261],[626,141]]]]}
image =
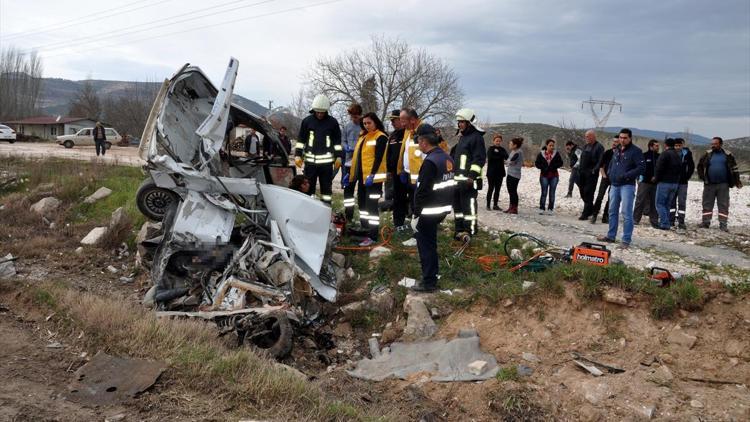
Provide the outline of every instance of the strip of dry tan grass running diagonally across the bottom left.
{"type": "Polygon", "coordinates": [[[127,301],[61,284],[25,288],[20,296],[27,304],[54,310],[59,323],[83,330],[85,347],[164,360],[172,376],[187,387],[215,396],[244,414],[274,420],[390,419],[368,416],[360,408],[332,400],[317,386],[278,369],[250,349],[228,348],[212,324],[157,319],[127,301]]]}

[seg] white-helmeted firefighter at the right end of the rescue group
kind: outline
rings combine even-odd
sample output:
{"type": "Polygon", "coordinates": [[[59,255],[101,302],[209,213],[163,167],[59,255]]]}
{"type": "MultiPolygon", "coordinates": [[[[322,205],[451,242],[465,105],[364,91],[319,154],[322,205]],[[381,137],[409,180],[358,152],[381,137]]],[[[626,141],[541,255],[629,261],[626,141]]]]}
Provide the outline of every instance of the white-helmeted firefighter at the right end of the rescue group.
{"type": "Polygon", "coordinates": [[[482,189],[482,167],[487,159],[484,131],[474,126],[474,110],[462,108],[456,112],[461,137],[453,151],[456,167],[456,189],[453,199],[455,238],[474,236],[477,232],[477,191],[482,189]]]}

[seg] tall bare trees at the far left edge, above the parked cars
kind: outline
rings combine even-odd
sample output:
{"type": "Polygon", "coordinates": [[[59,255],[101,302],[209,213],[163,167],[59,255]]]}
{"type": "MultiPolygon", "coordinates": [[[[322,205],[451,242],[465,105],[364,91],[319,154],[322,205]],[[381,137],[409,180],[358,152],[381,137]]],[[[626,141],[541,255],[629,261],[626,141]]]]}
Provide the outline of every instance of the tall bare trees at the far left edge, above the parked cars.
{"type": "Polygon", "coordinates": [[[37,113],[42,92],[42,60],[10,47],[0,51],[0,120],[37,113]]]}

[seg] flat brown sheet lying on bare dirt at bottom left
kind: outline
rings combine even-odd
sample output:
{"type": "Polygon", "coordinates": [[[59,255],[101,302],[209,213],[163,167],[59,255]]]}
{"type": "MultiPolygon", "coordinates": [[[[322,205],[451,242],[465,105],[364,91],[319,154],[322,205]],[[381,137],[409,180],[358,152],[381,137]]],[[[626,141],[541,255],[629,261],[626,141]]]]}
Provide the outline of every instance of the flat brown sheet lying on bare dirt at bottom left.
{"type": "Polygon", "coordinates": [[[91,406],[121,403],[151,388],[165,369],[163,362],[99,352],[75,372],[65,398],[91,406]]]}

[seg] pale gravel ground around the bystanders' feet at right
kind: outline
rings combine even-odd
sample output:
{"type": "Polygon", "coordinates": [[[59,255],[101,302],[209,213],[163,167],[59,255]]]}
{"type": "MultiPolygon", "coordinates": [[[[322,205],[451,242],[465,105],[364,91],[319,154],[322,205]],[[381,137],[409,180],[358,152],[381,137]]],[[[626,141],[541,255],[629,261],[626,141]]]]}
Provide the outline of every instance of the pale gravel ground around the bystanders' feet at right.
{"type": "MultiPolygon", "coordinates": [[[[570,247],[584,241],[593,241],[595,236],[606,234],[607,225],[591,224],[578,221],[583,204],[577,189],[573,198],[565,198],[570,173],[560,171],[560,183],[557,188],[555,215],[539,215],[539,171],[525,168],[519,185],[519,214],[508,215],[500,211],[485,209],[485,192],[479,194],[479,222],[488,229],[526,232],[554,245],[570,247]]],[[[731,264],[738,268],[750,269],[750,259],[743,252],[750,245],[750,189],[732,189],[730,199],[731,233],[718,230],[718,223],[711,229],[698,229],[701,220],[701,182],[690,182],[688,188],[688,206],[686,223],[688,230],[664,232],[648,225],[648,218],[636,226],[633,243],[628,250],[614,248],[613,256],[622,259],[627,265],[645,267],[657,265],[681,273],[701,271],[707,267],[718,267],[713,271],[713,278],[726,282],[740,281],[746,274],[727,274],[722,266],[731,264]],[[738,247],[739,246],[739,247],[738,247]],[[744,246],[744,247],[743,247],[744,246]]],[[[506,187],[500,195],[500,206],[507,208],[508,193],[506,187]]],[[[714,217],[716,218],[716,217],[714,217]]],[[[620,228],[619,236],[622,233],[620,228]]]]}

